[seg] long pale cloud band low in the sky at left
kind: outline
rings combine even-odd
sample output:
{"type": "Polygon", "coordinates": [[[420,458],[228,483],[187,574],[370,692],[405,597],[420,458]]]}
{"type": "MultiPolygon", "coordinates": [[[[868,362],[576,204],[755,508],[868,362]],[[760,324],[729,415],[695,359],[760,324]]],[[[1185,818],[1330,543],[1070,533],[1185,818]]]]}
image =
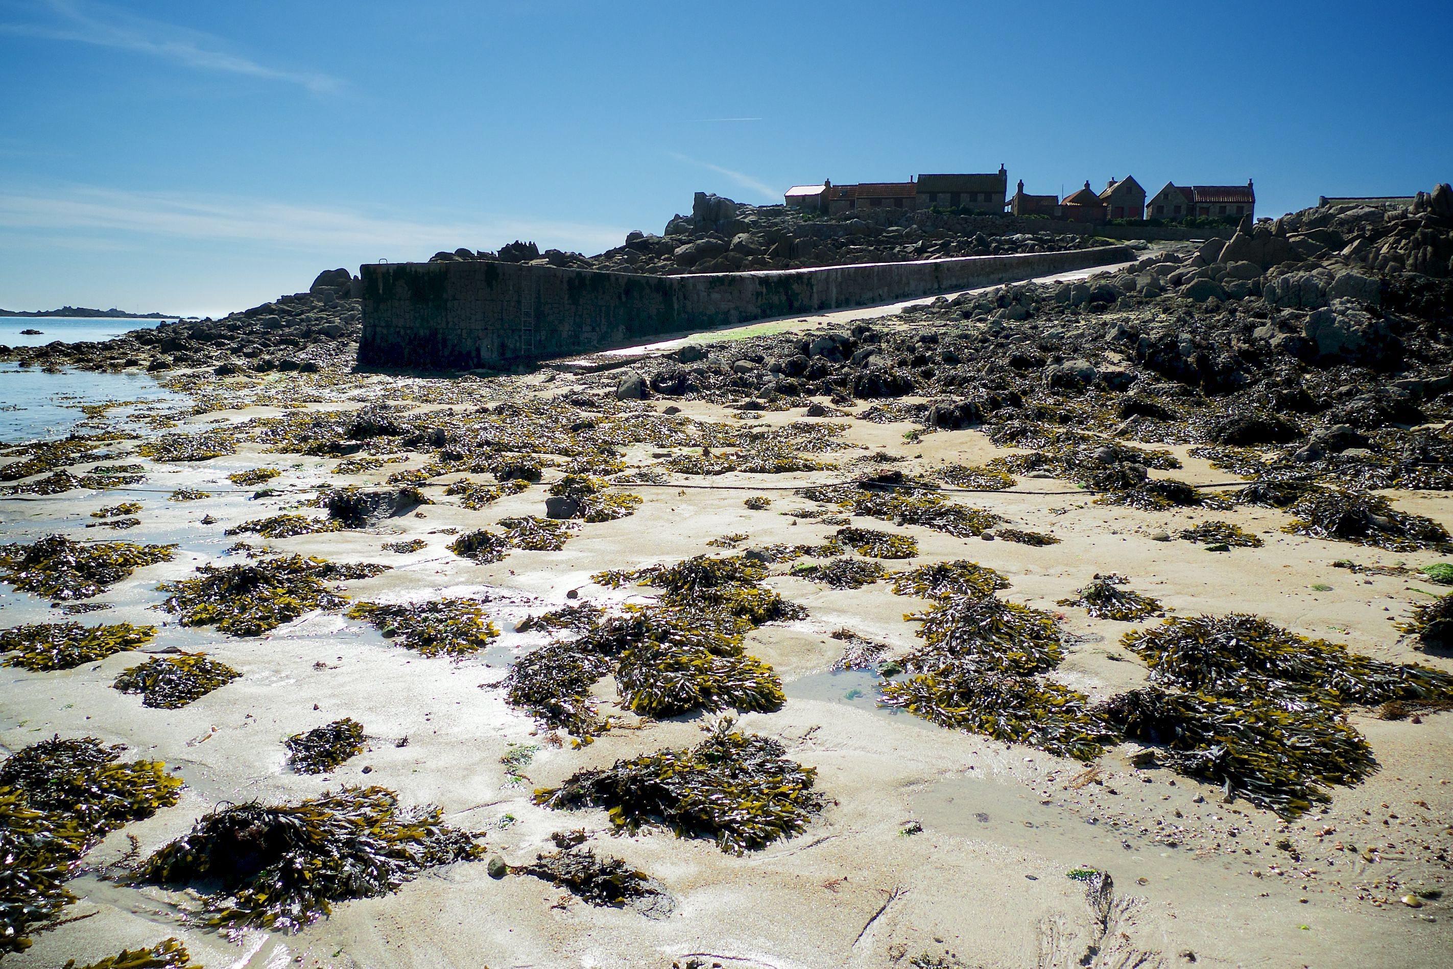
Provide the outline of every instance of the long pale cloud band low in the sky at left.
{"type": "Polygon", "coordinates": [[[0,192],[0,232],[46,237],[99,232],[256,243],[292,251],[368,248],[388,259],[458,246],[493,248],[514,238],[536,240],[542,248],[594,253],[619,246],[625,237],[622,228],[584,222],[520,218],[430,222],[264,199],[97,187],[0,192]]]}

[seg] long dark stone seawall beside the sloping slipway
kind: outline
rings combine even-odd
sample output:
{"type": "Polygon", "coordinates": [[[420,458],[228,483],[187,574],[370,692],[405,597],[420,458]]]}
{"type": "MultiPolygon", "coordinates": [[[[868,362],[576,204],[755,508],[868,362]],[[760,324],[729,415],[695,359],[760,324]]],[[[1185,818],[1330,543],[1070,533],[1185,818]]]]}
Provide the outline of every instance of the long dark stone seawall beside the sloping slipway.
{"type": "Polygon", "coordinates": [[[369,263],[359,366],[469,370],[686,330],[869,307],[1129,261],[1123,246],[1021,256],[632,276],[519,263],[369,263]]]}

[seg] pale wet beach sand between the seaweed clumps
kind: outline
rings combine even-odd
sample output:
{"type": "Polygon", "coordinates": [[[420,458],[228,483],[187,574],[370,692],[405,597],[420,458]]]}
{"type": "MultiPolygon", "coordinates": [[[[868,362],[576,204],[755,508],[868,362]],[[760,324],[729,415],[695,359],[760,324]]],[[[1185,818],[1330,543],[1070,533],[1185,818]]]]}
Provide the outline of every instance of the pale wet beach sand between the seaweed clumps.
{"type": "MultiPolygon", "coordinates": [[[[581,378],[536,373],[500,379],[559,394],[581,378]]],[[[667,402],[674,401],[654,405],[667,402]]],[[[680,407],[700,420],[732,415],[712,404],[680,407]]],[[[279,411],[206,414],[185,427],[201,430],[219,417],[235,423],[264,413],[279,411]]],[[[767,413],[758,424],[801,417],[799,410],[767,413]]],[[[971,430],[907,440],[904,434],[917,426],[846,423],[844,440],[863,450],[828,456],[843,463],[885,450],[908,458],[895,466],[912,472],[1011,453],[971,430]]],[[[651,463],[651,446],[625,450],[628,466],[651,463]]],[[[1191,484],[1231,478],[1189,458],[1184,446],[1171,450],[1184,463],[1173,477],[1191,484]]],[[[211,628],[180,629],[151,609],[163,599],[155,591],[160,580],[183,578],[196,565],[218,561],[237,538],[264,543],[256,536],[227,538],[225,527],[275,514],[320,484],[382,482],[423,461],[416,456],[407,465],[340,478],[328,474],[336,461],[260,453],[247,445],[237,455],[196,465],[142,461],[150,474],[144,491],[73,491],[0,501],[0,530],[9,542],[52,532],[179,542],[173,562],[139,569],[97,599],[115,609],[81,620],[169,623],[151,648],[203,648],[244,674],[186,708],[158,710],[110,689],[116,674],[138,661],[134,652],[64,673],[3,667],[0,742],[15,751],[57,732],[94,735],[126,744],[129,757],[145,755],[180,769],[186,780],[182,802],[112,834],[87,856],[90,869],[118,861],[129,847],[128,835],[144,853],[155,850],[219,802],[296,800],[340,783],[376,783],[397,790],[404,803],[439,803],[450,824],[485,832],[488,851],[510,864],[549,850],[552,831],[584,827],[597,853],[623,857],[664,882],[676,912],[648,920],[629,909],[593,908],[533,877],[494,880],[481,861],[426,870],[385,898],[339,904],[330,918],[298,936],[246,931],[228,940],[182,924],[180,895],[87,875],[70,883],[80,901],[67,915],[89,917],[36,936],[33,949],[9,956],[7,965],[61,966],[71,957],[89,962],[167,936],[183,938],[203,966],[238,969],[664,969],[673,960],[687,965],[692,959],[708,966],[788,969],[910,965],[920,953],[944,959],[952,953],[965,966],[1072,966],[1088,946],[1097,946],[1094,965],[1113,966],[1187,965],[1187,953],[1197,965],[1212,966],[1446,965],[1453,943],[1447,902],[1411,909],[1396,899],[1412,888],[1450,888],[1453,713],[1424,715],[1421,723],[1354,716],[1382,770],[1356,787],[1334,787],[1325,811],[1314,809],[1290,822],[1244,800],[1225,803],[1219,787],[1168,770],[1133,769],[1123,751],[1106,753],[1097,761],[1098,777],[1087,780],[1085,766],[1077,761],[879,709],[865,689],[869,674],[828,673],[843,646],[830,638],[835,629],[850,628],[895,651],[915,644],[917,626],[904,622],[904,613],[923,603],[892,596],[885,583],[831,590],[774,575],[767,584],[805,606],[809,617],[748,635],[747,651],[783,678],[788,703],[776,713],[745,715],[742,722],[779,738],[789,757],[815,767],[818,787],[830,799],[802,835],[734,857],[711,843],[661,831],[610,837],[603,811],[561,814],[535,806],[532,787],[555,786],[577,770],[609,766],[619,757],[695,744],[699,726],[715,718],[684,716],[639,731],[612,731],[580,750],[568,742],[542,744],[543,731],[506,706],[495,686],[511,657],[546,641],[542,633],[517,632],[514,625],[526,615],[565,604],[572,590],[580,600],[600,604],[641,601],[648,590],[607,590],[594,585],[590,575],[715,551],[705,543],[722,535],[750,535],[744,548],[821,542],[831,526],[779,514],[818,507],[783,488],[838,481],[847,477],[843,471],[731,472],[705,479],[676,477],[667,487],[631,485],[645,498],[632,517],[586,524],[561,552],[517,551],[493,565],[452,555],[445,548],[450,536],[437,530],[466,530],[510,514],[543,514],[543,488],[532,487],[481,511],[434,504],[372,530],[266,542],[337,562],[395,567],[349,583],[353,599],[417,601],[487,593],[491,617],[504,633],[493,649],[464,662],[423,658],[391,645],[371,626],[333,613],[311,613],[273,635],[241,639],[211,628]],[[230,472],[256,466],[283,469],[269,482],[282,494],[251,501],[253,488],[237,490],[225,481],[230,472]],[[166,500],[183,487],[216,495],[192,503],[166,500]],[[744,508],[742,498],[751,494],[770,495],[772,507],[744,508]],[[81,527],[92,510],[121,500],[142,501],[141,526],[115,535],[81,527]],[[205,514],[216,523],[202,524],[205,514]],[[381,549],[382,542],[410,538],[427,546],[407,555],[381,549]],[[325,776],[288,770],[280,741],[341,716],[365,725],[369,751],[325,776]],[[400,747],[405,737],[408,744],[400,747]],[[523,769],[529,777],[523,786],[511,786],[500,763],[510,744],[542,744],[523,769]],[[1283,838],[1300,860],[1276,847],[1283,838]],[[1380,853],[1376,861],[1366,861],[1338,847],[1343,844],[1375,844],[1380,853]],[[1084,883],[1067,876],[1084,866],[1107,870],[1114,879],[1109,931],[1093,924],[1084,883]]],[[[1437,561],[1436,554],[1392,554],[1284,535],[1280,526],[1287,516],[1266,508],[1136,511],[1091,504],[1091,495],[1069,482],[1023,478],[1020,488],[1039,494],[958,498],[997,511],[1017,527],[1051,532],[1059,545],[958,539],[886,523],[873,527],[915,536],[920,555],[911,564],[972,559],[1010,580],[1001,597],[1059,613],[1072,642],[1053,677],[1094,700],[1145,681],[1144,665],[1119,645],[1123,632],[1145,623],[1091,620],[1080,609],[1055,606],[1106,571],[1128,575],[1136,591],[1158,597],[1170,615],[1252,612],[1379,660],[1453,670],[1447,660],[1414,652],[1392,622],[1407,617],[1425,594],[1444,590],[1407,575],[1332,567],[1337,559],[1351,559],[1415,568],[1437,561]],[[1215,554],[1193,542],[1152,539],[1207,519],[1261,535],[1266,546],[1215,554]],[[1314,588],[1318,585],[1331,588],[1314,588]]],[[[1395,497],[1398,508],[1453,526],[1453,495],[1395,497]]],[[[0,593],[0,625],[61,619],[55,613],[45,601],[9,587],[0,593]]],[[[606,703],[615,697],[609,678],[597,692],[606,703]]]]}

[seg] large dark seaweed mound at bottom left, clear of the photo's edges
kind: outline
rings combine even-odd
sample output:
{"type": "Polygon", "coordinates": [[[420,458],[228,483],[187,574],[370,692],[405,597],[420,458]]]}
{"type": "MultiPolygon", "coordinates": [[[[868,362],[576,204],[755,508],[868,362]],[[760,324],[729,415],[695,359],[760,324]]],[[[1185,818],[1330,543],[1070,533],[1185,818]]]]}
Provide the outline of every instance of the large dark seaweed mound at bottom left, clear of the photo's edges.
{"type": "Polygon", "coordinates": [[[295,805],[218,808],[138,877],[198,888],[208,925],[299,931],[334,902],[388,895],[424,869],[479,857],[477,838],[443,825],[439,808],[343,787],[295,805]]]}

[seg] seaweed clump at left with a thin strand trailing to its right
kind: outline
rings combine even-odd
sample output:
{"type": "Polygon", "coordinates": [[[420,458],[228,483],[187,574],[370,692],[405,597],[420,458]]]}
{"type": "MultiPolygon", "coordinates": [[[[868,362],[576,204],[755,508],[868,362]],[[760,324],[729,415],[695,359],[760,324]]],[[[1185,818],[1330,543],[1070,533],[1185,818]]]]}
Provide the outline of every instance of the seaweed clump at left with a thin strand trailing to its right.
{"type": "Polygon", "coordinates": [[[202,565],[201,578],[163,583],[170,596],[158,606],[180,616],[183,626],[215,625],[232,636],[260,636],[314,609],[341,609],[347,596],[324,581],[366,578],[388,565],[340,565],[291,555],[218,568],[202,565]]]}

